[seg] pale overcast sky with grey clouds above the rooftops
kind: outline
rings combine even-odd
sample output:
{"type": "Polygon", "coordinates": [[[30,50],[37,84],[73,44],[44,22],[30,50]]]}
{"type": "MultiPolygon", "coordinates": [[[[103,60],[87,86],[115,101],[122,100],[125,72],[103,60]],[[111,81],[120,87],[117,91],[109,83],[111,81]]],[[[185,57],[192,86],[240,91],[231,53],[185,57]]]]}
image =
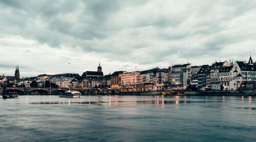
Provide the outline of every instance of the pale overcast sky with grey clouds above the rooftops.
{"type": "Polygon", "coordinates": [[[256,61],[255,15],[250,0],[0,0],[0,74],[256,61]]]}

